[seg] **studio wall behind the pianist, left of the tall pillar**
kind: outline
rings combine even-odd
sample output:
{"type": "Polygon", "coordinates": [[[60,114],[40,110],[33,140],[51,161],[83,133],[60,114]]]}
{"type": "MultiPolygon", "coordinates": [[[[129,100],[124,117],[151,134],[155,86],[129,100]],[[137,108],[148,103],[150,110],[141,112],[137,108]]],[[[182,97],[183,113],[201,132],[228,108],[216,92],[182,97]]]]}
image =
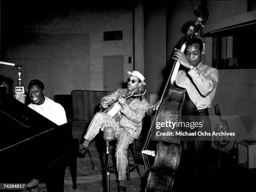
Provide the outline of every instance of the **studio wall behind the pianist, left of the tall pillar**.
{"type": "MultiPolygon", "coordinates": [[[[133,12],[126,5],[105,5],[23,2],[15,8],[1,1],[1,61],[23,65],[26,89],[31,78],[44,80],[52,99],[74,89],[103,90],[103,56],[122,55],[127,79],[126,71],[133,70],[133,12]],[[123,31],[122,40],[103,40],[104,31],[115,30],[123,31]]],[[[1,70],[15,84],[15,70],[1,70]]]]}

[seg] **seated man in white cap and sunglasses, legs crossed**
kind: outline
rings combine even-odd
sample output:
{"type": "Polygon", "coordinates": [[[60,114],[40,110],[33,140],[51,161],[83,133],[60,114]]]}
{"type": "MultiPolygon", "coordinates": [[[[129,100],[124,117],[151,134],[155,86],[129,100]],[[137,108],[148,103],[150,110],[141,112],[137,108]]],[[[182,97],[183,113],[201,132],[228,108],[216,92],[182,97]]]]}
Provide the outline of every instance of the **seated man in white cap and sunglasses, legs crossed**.
{"type": "Polygon", "coordinates": [[[118,88],[117,91],[104,96],[100,101],[100,107],[104,109],[108,108],[113,101],[118,101],[120,109],[113,117],[105,111],[95,114],[84,136],[85,140],[79,147],[79,152],[85,152],[90,141],[99,133],[100,129],[103,131],[104,127],[113,127],[117,139],[115,157],[119,181],[118,191],[126,191],[127,149],[134,139],[138,139],[142,129],[141,120],[149,107],[145,98],[134,98],[138,95],[143,96],[145,93],[142,91],[143,93],[139,94],[141,91],[138,91],[141,85],[146,85],[144,76],[138,71],[132,73],[128,71],[127,73],[129,75],[127,88],[118,88]]]}

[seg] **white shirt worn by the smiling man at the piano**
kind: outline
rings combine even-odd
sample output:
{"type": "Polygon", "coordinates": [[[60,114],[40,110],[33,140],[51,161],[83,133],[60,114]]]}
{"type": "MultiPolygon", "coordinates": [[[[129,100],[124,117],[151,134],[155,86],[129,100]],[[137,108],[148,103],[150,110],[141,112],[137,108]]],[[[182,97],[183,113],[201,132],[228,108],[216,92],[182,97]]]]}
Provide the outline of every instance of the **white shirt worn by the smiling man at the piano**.
{"type": "Polygon", "coordinates": [[[44,96],[44,103],[41,105],[29,104],[28,107],[35,110],[42,116],[51,120],[57,125],[62,125],[67,123],[67,117],[64,108],[61,104],[58,104],[48,97],[44,96]]]}

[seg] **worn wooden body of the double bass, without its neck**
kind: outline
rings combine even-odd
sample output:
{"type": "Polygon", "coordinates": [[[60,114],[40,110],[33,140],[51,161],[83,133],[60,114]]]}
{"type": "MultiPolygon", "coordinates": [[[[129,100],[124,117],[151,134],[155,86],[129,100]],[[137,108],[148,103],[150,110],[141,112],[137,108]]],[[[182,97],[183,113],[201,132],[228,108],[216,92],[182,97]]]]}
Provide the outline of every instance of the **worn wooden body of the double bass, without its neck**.
{"type": "MultiPolygon", "coordinates": [[[[186,89],[174,85],[169,88],[166,98],[159,107],[156,122],[176,122],[180,121],[183,116],[195,118],[194,115],[199,114],[196,106],[189,99],[186,89]]],[[[161,127],[161,129],[168,130],[169,128],[161,127]]],[[[180,131],[181,128],[175,127],[174,129],[180,131]]],[[[170,136],[166,136],[166,141],[157,141],[155,161],[148,174],[147,192],[170,191],[172,189],[174,174],[179,167],[182,151],[180,139],[180,136],[174,136],[170,142],[170,136]]]]}

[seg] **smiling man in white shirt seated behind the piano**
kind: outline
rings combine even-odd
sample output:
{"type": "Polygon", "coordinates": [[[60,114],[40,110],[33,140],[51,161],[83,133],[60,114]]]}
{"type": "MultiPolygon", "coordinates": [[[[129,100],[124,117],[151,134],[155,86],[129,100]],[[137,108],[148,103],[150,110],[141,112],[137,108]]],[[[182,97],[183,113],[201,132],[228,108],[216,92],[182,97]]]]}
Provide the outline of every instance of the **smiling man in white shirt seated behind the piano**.
{"type": "MultiPolygon", "coordinates": [[[[44,83],[42,81],[37,79],[30,81],[28,84],[28,95],[32,102],[28,107],[53,121],[57,125],[67,123],[64,108],[60,104],[44,96],[44,83]]],[[[31,192],[37,192],[38,184],[38,179],[32,179],[28,182],[27,187],[31,187],[31,192]]]]}

